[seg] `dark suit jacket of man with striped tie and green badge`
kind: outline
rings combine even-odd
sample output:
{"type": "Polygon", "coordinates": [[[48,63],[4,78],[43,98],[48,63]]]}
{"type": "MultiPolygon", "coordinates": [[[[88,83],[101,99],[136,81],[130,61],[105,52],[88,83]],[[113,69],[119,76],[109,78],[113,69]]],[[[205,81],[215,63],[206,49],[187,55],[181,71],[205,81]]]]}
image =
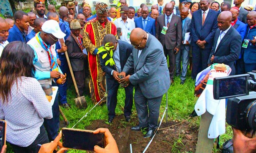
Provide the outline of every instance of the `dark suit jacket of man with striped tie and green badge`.
{"type": "Polygon", "coordinates": [[[182,22],[180,17],[173,14],[171,22],[167,29],[166,34],[161,34],[163,27],[165,26],[165,14],[157,18],[156,24],[156,38],[161,44],[166,46],[167,49],[179,48],[182,41],[182,22]]]}

